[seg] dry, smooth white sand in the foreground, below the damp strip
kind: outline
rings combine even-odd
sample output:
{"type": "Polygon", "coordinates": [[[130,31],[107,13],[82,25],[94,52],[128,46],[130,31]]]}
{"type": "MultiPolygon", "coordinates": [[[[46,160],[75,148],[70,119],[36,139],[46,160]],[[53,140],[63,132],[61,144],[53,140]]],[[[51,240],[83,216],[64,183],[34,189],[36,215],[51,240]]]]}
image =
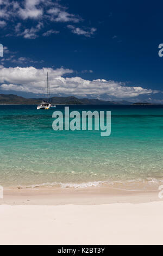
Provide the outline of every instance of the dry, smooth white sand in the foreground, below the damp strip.
{"type": "Polygon", "coordinates": [[[1,245],[163,245],[163,202],[0,205],[1,245]]]}

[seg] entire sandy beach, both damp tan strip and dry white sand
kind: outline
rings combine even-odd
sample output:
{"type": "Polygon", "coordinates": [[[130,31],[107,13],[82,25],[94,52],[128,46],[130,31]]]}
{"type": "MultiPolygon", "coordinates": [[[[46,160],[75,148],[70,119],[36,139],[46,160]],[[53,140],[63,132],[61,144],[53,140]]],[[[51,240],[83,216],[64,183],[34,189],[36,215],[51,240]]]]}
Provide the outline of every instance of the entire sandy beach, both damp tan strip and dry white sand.
{"type": "Polygon", "coordinates": [[[4,190],[0,204],[0,245],[163,245],[158,192],[4,190]]]}

